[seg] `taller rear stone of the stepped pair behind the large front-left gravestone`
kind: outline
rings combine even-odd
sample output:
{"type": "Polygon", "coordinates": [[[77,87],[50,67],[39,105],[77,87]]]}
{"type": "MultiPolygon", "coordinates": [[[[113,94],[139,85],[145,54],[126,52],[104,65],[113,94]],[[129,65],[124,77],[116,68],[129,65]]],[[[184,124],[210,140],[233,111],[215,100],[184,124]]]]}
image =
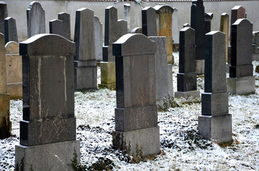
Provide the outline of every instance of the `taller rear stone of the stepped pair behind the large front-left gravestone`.
{"type": "Polygon", "coordinates": [[[64,37],[71,41],[70,14],[65,12],[59,13],[58,19],[63,21],[64,37]]]}

